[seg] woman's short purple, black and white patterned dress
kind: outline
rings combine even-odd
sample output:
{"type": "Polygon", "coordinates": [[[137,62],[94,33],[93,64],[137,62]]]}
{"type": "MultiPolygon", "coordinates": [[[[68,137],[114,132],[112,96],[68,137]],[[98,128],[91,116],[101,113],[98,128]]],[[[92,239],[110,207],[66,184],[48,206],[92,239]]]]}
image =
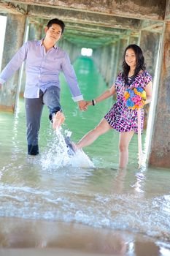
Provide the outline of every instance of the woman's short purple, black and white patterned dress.
{"type": "MultiPolygon", "coordinates": [[[[116,79],[115,89],[117,91],[117,102],[112,106],[111,110],[104,116],[113,129],[118,132],[138,132],[138,118],[137,110],[132,110],[125,105],[123,101],[123,94],[127,89],[134,89],[141,87],[142,89],[147,86],[152,80],[151,75],[144,70],[142,73],[136,75],[136,78],[131,81],[128,78],[128,85],[125,85],[123,73],[121,72],[116,79]]],[[[143,131],[144,125],[144,110],[141,110],[141,130],[143,131]]]]}

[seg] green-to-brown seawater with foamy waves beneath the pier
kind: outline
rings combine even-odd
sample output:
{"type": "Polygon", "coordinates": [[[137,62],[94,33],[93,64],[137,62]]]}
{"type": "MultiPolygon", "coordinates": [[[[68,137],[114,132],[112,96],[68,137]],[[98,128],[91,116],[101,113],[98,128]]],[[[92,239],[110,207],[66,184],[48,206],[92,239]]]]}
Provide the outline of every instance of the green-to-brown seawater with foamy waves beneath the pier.
{"type": "MultiPolygon", "coordinates": [[[[80,87],[86,99],[104,90],[104,81],[98,78],[92,61],[80,59],[75,67],[85,83],[80,87]]],[[[44,110],[39,157],[26,156],[23,100],[18,115],[0,113],[0,246],[23,243],[25,247],[58,246],[119,255],[169,255],[169,170],[138,169],[136,137],[130,146],[127,170],[118,169],[119,135],[115,131],[98,138],[85,153],[70,158],[64,136],[72,132],[72,140],[79,140],[98,124],[112,99],[80,113],[63,81],[62,105],[66,124],[57,133],[52,131],[44,110]],[[63,235],[59,236],[57,230],[64,223],[72,225],[62,226],[63,235]],[[43,232],[43,227],[53,230],[54,237],[50,237],[50,231],[43,232]]]]}

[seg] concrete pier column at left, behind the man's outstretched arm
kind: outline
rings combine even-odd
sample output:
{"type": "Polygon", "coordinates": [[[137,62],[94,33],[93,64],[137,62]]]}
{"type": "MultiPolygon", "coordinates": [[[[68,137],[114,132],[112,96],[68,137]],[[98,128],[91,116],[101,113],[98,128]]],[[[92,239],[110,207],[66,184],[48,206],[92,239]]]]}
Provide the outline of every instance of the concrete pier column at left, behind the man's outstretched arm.
{"type": "MultiPolygon", "coordinates": [[[[25,31],[26,16],[24,15],[7,15],[6,34],[4,39],[4,51],[2,57],[1,70],[12,59],[17,50],[23,44],[23,35],[25,31]]],[[[18,89],[18,74],[4,83],[0,91],[0,110],[13,112],[15,110],[16,93],[18,89]]]]}

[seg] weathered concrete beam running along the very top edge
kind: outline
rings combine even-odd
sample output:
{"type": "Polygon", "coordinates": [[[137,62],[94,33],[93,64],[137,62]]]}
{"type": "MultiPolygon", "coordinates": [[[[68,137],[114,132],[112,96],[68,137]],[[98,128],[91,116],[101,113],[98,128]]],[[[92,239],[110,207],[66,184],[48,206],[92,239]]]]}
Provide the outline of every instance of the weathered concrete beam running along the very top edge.
{"type": "Polygon", "coordinates": [[[166,10],[166,0],[91,0],[88,2],[86,0],[13,0],[9,2],[150,20],[163,20],[166,10]]]}

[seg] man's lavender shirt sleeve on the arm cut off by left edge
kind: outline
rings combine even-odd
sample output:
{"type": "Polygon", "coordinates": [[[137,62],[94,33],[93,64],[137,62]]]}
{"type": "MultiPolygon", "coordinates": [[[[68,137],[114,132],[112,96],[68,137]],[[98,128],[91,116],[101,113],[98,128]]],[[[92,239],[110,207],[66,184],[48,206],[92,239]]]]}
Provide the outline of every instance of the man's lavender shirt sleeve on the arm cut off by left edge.
{"type": "Polygon", "coordinates": [[[20,50],[12,57],[6,67],[0,74],[0,83],[5,83],[9,78],[12,77],[15,71],[17,71],[23,61],[26,59],[26,53],[28,50],[28,42],[26,42],[20,50]]]}

